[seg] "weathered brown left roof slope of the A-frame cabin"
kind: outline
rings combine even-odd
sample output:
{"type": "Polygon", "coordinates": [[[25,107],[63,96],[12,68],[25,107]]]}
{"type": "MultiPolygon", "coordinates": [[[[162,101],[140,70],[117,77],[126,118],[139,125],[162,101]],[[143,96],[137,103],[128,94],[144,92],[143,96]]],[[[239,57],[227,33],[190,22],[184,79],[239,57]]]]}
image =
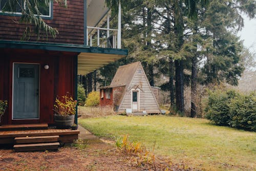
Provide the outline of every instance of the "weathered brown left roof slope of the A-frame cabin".
{"type": "Polygon", "coordinates": [[[140,61],[120,66],[110,84],[110,87],[123,85],[129,86],[139,65],[140,61]]]}

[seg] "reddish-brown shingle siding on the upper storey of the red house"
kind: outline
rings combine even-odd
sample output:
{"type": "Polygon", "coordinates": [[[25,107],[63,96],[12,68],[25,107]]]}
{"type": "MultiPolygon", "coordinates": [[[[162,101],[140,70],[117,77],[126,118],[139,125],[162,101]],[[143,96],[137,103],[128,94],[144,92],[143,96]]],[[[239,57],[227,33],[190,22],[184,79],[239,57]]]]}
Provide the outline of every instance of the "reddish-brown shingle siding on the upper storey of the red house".
{"type": "MultiPolygon", "coordinates": [[[[53,1],[54,2],[54,1],[53,1]]],[[[59,32],[53,39],[51,36],[40,38],[39,41],[63,44],[83,44],[83,0],[68,0],[68,8],[53,4],[53,19],[44,19],[59,32]]],[[[20,40],[25,30],[25,24],[18,24],[20,17],[0,15],[0,39],[20,40]]],[[[33,34],[30,41],[36,41],[33,34]]]]}

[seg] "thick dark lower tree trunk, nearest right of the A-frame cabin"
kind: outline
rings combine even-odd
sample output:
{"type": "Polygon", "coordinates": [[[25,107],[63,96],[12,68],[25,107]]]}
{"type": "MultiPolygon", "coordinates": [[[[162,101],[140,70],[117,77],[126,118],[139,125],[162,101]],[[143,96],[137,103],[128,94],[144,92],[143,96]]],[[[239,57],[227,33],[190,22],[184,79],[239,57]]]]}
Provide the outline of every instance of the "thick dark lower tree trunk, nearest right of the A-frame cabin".
{"type": "Polygon", "coordinates": [[[184,113],[184,75],[183,75],[183,60],[175,60],[175,87],[176,87],[176,107],[181,112],[184,113]]]}

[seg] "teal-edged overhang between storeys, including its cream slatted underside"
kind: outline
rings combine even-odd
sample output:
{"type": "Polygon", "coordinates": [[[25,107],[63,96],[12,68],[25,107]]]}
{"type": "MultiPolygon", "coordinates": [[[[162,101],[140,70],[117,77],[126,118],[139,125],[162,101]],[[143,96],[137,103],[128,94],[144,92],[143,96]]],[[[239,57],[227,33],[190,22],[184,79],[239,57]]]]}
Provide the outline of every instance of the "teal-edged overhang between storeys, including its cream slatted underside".
{"type": "Polygon", "coordinates": [[[99,48],[84,45],[52,44],[47,42],[0,40],[0,48],[40,49],[48,51],[77,52],[78,74],[93,72],[111,62],[127,56],[126,49],[99,48]]]}

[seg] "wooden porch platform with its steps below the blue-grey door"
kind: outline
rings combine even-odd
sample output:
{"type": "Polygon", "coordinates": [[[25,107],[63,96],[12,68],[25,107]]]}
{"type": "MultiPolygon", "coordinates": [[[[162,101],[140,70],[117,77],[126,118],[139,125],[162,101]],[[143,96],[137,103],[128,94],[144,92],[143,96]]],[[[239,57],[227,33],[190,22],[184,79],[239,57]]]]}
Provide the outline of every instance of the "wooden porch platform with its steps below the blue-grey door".
{"type": "Polygon", "coordinates": [[[20,124],[0,126],[0,144],[11,144],[15,151],[57,149],[64,143],[78,139],[78,130],[55,129],[48,124],[20,124]]]}

